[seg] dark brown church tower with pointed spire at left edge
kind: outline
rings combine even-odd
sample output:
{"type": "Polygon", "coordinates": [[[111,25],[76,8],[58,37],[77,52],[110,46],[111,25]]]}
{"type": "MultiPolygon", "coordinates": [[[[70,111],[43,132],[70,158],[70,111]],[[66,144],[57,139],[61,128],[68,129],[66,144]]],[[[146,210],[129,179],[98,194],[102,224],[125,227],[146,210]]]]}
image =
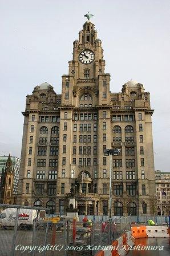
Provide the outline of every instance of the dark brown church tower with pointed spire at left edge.
{"type": "Polygon", "coordinates": [[[15,204],[16,195],[14,194],[14,167],[12,166],[11,156],[6,162],[5,168],[2,168],[0,184],[0,203],[15,204]]]}

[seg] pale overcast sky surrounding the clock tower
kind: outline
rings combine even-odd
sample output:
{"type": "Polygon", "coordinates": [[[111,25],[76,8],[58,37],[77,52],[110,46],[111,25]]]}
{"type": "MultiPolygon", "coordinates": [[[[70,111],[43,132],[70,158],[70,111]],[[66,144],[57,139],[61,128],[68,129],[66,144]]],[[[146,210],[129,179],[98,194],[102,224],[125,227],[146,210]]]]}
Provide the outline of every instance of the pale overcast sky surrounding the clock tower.
{"type": "Polygon", "coordinates": [[[21,156],[26,95],[61,93],[87,11],[103,42],[111,92],[133,79],[151,93],[155,170],[169,170],[170,1],[0,0],[0,153],[21,156]]]}

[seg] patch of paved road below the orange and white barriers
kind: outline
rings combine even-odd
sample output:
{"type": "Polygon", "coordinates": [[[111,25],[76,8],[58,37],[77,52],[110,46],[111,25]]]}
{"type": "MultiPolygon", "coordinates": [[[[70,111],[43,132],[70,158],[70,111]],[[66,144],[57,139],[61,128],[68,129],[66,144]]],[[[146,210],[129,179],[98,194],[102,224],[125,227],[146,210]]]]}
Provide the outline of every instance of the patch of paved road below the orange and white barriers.
{"type": "MultiPolygon", "coordinates": [[[[152,250],[133,250],[129,251],[128,256],[169,256],[169,238],[138,238],[135,241],[135,246],[152,246],[152,250]],[[155,250],[153,249],[155,246],[155,250]],[[156,250],[156,246],[160,246],[160,249],[156,250]]],[[[149,249],[149,248],[148,248],[149,249]]]]}

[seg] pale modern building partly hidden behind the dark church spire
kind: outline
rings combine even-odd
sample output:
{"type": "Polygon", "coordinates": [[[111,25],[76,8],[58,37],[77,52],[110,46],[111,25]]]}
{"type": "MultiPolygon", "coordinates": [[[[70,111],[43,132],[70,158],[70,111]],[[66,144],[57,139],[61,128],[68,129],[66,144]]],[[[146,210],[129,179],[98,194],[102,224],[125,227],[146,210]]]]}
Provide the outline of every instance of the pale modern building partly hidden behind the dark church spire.
{"type": "MultiPolygon", "coordinates": [[[[0,181],[1,181],[2,170],[6,168],[6,162],[8,158],[9,156],[0,156],[0,181]]],[[[14,169],[13,193],[17,195],[20,159],[17,156],[10,156],[10,159],[11,159],[12,167],[14,169]]]]}

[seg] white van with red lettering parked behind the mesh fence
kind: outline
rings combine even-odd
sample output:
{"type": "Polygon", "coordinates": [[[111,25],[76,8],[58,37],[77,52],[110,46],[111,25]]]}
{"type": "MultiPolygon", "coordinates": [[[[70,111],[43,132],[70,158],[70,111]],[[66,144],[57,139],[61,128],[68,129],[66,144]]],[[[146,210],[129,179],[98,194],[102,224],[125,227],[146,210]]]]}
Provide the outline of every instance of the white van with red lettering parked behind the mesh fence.
{"type": "MultiPolygon", "coordinates": [[[[7,227],[14,227],[17,214],[17,208],[6,208],[1,212],[0,224],[3,229],[7,227]]],[[[21,229],[31,229],[33,227],[33,220],[44,220],[46,212],[44,210],[38,211],[34,209],[19,209],[18,227],[21,229]]]]}

